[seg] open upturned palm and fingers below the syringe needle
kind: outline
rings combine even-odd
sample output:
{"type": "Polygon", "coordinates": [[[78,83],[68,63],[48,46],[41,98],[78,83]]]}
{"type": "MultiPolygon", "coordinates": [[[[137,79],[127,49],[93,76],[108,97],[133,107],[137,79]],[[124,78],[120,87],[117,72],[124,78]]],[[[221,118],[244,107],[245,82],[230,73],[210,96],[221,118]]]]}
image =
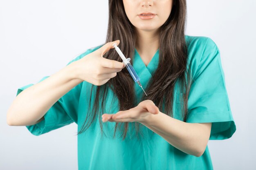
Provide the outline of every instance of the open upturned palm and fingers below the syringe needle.
{"type": "Polygon", "coordinates": [[[103,114],[102,121],[115,121],[115,122],[133,122],[144,123],[148,121],[150,115],[159,113],[159,108],[151,100],[144,100],[134,108],[129,110],[119,111],[116,114],[103,114]]]}

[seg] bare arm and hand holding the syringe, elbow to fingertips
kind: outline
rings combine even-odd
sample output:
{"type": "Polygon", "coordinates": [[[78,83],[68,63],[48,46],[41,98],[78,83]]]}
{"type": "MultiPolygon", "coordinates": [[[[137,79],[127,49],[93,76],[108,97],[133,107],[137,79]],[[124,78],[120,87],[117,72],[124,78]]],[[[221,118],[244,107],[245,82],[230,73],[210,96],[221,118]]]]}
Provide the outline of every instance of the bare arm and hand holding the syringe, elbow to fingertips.
{"type": "MultiPolygon", "coordinates": [[[[7,111],[7,123],[10,126],[37,124],[44,119],[45,113],[58,99],[79,83],[87,81],[100,86],[115,77],[117,72],[124,68],[124,64],[115,60],[108,60],[103,55],[115,48],[112,44],[117,43],[118,45],[119,42],[119,40],[108,42],[98,50],[68,64],[43,81],[22,91],[7,111]]],[[[77,93],[73,91],[69,95],[74,97],[77,93]]],[[[65,110],[58,111],[65,112],[65,110]]]]}

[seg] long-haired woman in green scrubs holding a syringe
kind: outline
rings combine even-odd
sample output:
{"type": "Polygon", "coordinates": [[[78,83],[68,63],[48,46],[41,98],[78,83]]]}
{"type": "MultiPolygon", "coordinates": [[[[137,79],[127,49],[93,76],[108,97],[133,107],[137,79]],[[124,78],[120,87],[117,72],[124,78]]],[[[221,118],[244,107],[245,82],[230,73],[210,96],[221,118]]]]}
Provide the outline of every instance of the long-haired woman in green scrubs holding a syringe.
{"type": "Polygon", "coordinates": [[[19,88],[8,124],[41,135],[75,122],[81,170],[213,169],[208,140],[236,125],[218,47],[184,35],[185,16],[185,0],[109,0],[107,43],[19,88]]]}

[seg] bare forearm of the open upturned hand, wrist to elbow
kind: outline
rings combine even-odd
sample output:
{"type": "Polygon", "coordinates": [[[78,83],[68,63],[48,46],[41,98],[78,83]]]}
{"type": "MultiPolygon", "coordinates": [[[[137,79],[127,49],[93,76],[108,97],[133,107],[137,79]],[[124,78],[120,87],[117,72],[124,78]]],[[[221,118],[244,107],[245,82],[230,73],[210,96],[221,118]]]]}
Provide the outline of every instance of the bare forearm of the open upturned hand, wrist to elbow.
{"type": "Polygon", "coordinates": [[[162,112],[157,115],[151,114],[141,124],[163,137],[175,148],[198,157],[202,155],[207,146],[211,130],[211,123],[186,123],[162,112]]]}

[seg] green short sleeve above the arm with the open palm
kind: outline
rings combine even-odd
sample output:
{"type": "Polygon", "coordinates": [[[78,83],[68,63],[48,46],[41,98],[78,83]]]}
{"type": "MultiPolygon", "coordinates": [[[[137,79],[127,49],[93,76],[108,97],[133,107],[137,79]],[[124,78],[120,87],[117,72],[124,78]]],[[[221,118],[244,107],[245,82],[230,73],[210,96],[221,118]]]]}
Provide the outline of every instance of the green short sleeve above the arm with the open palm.
{"type": "Polygon", "coordinates": [[[188,100],[186,122],[212,122],[210,139],[228,139],[236,131],[229,106],[220,51],[210,38],[207,39],[198,65],[188,100]]]}

